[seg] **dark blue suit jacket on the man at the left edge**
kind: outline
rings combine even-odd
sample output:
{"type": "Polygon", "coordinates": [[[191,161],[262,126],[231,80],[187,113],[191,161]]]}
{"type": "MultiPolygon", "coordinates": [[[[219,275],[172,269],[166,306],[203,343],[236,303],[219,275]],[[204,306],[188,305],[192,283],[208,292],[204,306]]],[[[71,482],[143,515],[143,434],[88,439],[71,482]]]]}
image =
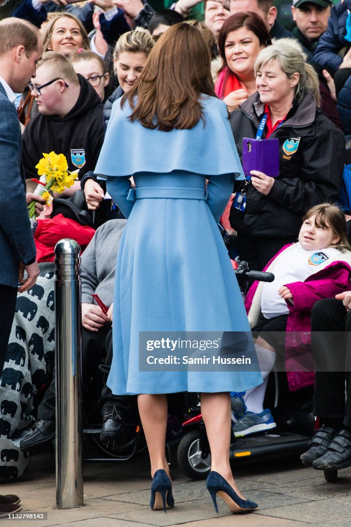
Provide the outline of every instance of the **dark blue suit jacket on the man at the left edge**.
{"type": "Polygon", "coordinates": [[[35,260],[21,162],[21,128],[0,83],[0,284],[17,287],[18,264],[35,260]]]}

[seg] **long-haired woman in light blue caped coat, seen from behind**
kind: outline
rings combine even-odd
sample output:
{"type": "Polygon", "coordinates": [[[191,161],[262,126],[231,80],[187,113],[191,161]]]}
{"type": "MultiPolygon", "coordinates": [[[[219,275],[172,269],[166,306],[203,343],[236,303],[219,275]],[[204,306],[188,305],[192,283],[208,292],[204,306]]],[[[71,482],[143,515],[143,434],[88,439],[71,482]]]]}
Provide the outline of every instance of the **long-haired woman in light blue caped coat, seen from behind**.
{"type": "MultiPolygon", "coordinates": [[[[261,374],[233,371],[211,359],[223,331],[237,336],[240,357],[253,358],[254,348],[217,226],[235,177],[243,175],[226,106],[214,95],[210,64],[197,28],[177,24],[164,33],[138,83],[122,103],[114,103],[95,169],[107,178],[109,193],[128,218],[116,264],[108,385],[115,394],[138,394],[153,510],[174,505],[164,456],[164,394],[183,391],[201,393],[212,456],[207,487],[215,507],[219,491],[232,512],[257,507],[243,499],[229,466],[229,392],[260,384],[261,374]],[[157,340],[178,341],[184,337],[180,332],[202,332],[187,333],[192,343],[201,336],[212,339],[213,347],[199,355],[211,359],[209,367],[184,366],[182,356],[190,356],[189,350],[180,350],[181,364],[155,364],[157,340]]],[[[161,358],[175,355],[167,346],[161,351],[161,358]]]]}

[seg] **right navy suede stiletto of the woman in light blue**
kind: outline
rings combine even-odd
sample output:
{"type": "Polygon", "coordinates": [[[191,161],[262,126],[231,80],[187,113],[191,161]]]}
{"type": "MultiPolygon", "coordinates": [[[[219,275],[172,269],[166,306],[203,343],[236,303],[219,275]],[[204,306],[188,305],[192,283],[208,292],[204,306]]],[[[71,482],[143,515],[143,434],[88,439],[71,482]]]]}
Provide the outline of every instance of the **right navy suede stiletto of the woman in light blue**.
{"type": "Polygon", "coordinates": [[[211,471],[208,475],[206,486],[211,494],[214,509],[218,514],[218,506],[216,496],[219,497],[228,505],[231,513],[250,512],[257,509],[258,505],[254,501],[243,500],[229,483],[218,472],[211,471]]]}

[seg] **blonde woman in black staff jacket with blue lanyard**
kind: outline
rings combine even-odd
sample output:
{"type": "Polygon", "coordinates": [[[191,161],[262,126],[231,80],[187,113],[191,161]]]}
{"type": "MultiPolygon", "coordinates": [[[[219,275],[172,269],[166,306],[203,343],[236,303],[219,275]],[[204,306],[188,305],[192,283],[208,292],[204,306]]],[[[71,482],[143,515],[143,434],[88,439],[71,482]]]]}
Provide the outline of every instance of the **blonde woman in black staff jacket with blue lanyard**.
{"type": "MultiPolygon", "coordinates": [[[[314,205],[338,198],[345,156],[343,133],[318,108],[317,74],[289,40],[262,50],[255,63],[253,94],[231,113],[242,156],[242,139],[279,139],[277,178],[252,171],[245,212],[230,209],[240,258],[262,269],[286,243],[296,241],[301,217],[314,205]],[[261,126],[260,126],[261,125],[261,126]]],[[[238,182],[235,191],[243,190],[238,182]]]]}

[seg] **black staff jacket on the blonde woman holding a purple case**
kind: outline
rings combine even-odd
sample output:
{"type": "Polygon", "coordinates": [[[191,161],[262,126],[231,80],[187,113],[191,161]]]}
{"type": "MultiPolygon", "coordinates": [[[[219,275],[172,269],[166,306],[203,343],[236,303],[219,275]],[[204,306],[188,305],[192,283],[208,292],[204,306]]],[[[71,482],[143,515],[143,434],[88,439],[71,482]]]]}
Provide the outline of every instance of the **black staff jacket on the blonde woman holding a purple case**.
{"type": "MultiPolygon", "coordinates": [[[[264,104],[258,93],[231,113],[231,129],[240,159],[242,139],[256,137],[263,113],[264,104]]],[[[268,196],[250,184],[246,210],[231,208],[230,225],[241,235],[252,237],[297,236],[301,217],[310,207],[338,198],[345,162],[344,135],[316,109],[313,95],[307,93],[299,105],[292,106],[285,122],[270,138],[279,139],[280,175],[268,196]],[[289,139],[297,143],[292,154],[286,148],[289,139]]],[[[240,186],[242,183],[238,182],[240,186]]]]}

